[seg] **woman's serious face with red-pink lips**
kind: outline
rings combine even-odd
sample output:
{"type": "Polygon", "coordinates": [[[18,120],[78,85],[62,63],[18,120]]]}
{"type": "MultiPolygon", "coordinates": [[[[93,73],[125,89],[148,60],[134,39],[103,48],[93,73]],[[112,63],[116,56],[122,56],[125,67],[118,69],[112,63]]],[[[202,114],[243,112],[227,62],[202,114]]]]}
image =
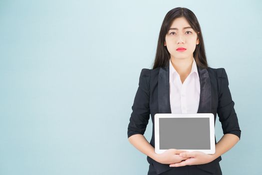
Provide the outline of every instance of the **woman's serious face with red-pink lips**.
{"type": "Polygon", "coordinates": [[[186,59],[193,58],[196,45],[199,44],[197,33],[191,28],[185,17],[176,18],[168,30],[164,45],[170,53],[171,58],[186,59]],[[184,47],[185,51],[178,51],[177,48],[184,47]]]}

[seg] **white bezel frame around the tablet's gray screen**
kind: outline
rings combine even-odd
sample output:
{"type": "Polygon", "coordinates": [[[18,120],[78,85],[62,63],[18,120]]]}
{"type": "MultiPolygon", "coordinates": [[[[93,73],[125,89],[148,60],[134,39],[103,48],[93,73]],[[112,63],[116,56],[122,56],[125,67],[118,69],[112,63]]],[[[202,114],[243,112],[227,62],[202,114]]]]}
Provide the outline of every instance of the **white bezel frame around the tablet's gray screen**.
{"type": "Polygon", "coordinates": [[[155,152],[160,154],[167,149],[159,149],[159,118],[209,118],[210,122],[210,149],[179,149],[186,151],[201,151],[207,154],[215,153],[215,126],[214,126],[214,114],[213,113],[156,113],[155,119],[155,152]]]}

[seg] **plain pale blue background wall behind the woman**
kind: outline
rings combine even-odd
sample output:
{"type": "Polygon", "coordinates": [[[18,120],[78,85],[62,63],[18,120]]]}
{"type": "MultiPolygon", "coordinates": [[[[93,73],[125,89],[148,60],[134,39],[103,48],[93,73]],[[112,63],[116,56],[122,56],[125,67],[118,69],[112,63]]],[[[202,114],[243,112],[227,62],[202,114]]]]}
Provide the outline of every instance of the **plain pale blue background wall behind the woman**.
{"type": "Polygon", "coordinates": [[[228,73],[242,135],[222,171],[262,174],[260,0],[0,0],[0,174],[147,174],[127,126],[178,6],[198,17],[210,66],[228,73]]]}

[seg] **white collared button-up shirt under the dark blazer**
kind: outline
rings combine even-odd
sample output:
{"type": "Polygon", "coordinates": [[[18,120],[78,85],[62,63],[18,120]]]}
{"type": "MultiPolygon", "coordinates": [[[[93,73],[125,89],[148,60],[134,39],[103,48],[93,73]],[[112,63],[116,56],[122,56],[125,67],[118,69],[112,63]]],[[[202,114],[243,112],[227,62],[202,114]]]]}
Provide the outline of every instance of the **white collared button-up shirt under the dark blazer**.
{"type": "Polygon", "coordinates": [[[181,82],[180,75],[169,59],[169,86],[171,113],[197,113],[200,98],[200,81],[195,59],[190,74],[181,82]]]}

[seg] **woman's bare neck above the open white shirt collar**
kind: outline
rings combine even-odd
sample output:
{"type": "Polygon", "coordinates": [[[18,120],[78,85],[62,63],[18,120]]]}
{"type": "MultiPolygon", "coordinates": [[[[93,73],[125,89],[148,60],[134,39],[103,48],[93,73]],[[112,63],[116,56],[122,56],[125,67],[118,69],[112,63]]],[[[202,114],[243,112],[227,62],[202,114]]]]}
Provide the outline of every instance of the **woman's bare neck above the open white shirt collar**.
{"type": "Polygon", "coordinates": [[[181,74],[188,75],[191,72],[191,67],[193,64],[193,56],[185,59],[178,59],[171,57],[171,62],[176,71],[181,74]]]}

